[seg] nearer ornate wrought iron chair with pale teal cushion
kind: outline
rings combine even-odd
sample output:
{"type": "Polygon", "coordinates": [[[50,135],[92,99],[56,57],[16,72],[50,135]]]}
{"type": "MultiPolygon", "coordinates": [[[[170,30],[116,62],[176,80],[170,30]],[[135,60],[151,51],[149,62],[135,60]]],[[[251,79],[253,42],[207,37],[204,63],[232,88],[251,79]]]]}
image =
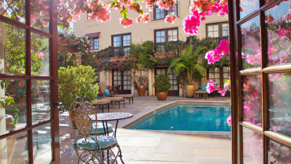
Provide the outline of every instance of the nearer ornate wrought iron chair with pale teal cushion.
{"type": "Polygon", "coordinates": [[[107,161],[109,161],[109,151],[111,151],[113,156],[112,164],[115,163],[120,154],[117,139],[112,136],[97,135],[97,129],[95,129],[95,134],[92,135],[93,125],[97,124],[97,114],[94,110],[87,109],[87,102],[77,104],[78,107],[70,111],[70,119],[72,120],[71,116],[75,115],[73,119],[76,126],[76,129],[74,129],[76,135],[73,141],[73,149],[79,158],[78,163],[81,161],[87,164],[91,160],[94,162],[97,159],[99,164],[105,164],[104,156],[102,156],[105,150],[108,150],[107,161]],[[116,155],[112,150],[115,147],[118,148],[116,155]]]}

